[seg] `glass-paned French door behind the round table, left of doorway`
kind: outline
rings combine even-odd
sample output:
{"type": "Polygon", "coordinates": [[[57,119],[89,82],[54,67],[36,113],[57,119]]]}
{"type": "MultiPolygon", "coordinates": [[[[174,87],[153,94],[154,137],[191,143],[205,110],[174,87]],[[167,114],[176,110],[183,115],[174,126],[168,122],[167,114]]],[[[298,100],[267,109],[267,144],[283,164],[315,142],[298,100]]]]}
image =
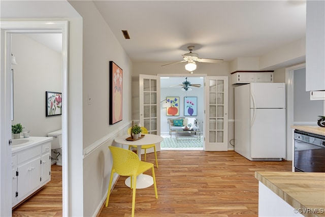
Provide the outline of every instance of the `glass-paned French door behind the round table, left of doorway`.
{"type": "MultiPolygon", "coordinates": [[[[140,124],[148,130],[148,134],[160,135],[160,78],[139,75],[139,82],[140,124]]],[[[160,151],[160,145],[156,145],[156,151],[160,151]]]]}

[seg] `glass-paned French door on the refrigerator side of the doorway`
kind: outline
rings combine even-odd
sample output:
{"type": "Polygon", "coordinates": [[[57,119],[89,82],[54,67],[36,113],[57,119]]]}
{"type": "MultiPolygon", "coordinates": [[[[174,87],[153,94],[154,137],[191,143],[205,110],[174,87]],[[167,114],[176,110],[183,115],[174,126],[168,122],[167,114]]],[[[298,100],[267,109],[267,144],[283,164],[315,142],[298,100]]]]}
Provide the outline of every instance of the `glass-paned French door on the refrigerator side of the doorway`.
{"type": "Polygon", "coordinates": [[[228,76],[206,77],[205,111],[204,150],[228,150],[228,76]]]}

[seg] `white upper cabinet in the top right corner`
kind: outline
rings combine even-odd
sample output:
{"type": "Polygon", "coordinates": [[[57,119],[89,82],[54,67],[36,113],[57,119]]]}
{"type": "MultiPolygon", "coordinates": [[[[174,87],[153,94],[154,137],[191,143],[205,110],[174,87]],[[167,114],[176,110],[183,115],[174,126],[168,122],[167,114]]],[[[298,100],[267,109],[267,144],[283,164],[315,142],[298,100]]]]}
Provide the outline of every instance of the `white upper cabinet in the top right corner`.
{"type": "Polygon", "coordinates": [[[325,90],[325,1],[306,2],[306,91],[325,90]]]}

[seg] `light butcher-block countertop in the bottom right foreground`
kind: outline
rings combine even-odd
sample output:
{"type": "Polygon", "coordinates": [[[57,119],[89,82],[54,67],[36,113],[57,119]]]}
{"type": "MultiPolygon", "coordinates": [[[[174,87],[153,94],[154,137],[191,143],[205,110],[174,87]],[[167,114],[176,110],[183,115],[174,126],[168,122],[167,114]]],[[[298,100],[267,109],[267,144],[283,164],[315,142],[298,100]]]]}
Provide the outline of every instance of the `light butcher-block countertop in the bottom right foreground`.
{"type": "Polygon", "coordinates": [[[322,212],[304,216],[325,216],[325,173],[256,171],[255,178],[292,207],[322,212]]]}

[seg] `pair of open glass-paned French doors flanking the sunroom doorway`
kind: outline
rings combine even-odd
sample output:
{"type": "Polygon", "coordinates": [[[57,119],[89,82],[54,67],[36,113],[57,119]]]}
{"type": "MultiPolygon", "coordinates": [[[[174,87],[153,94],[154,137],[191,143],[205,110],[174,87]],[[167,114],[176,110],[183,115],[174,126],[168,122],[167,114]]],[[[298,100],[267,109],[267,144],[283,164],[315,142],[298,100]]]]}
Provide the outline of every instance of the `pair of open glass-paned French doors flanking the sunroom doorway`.
{"type": "MultiPolygon", "coordinates": [[[[160,135],[160,78],[139,75],[140,123],[148,133],[160,135]]],[[[228,76],[207,76],[205,80],[206,151],[228,150],[228,76]]],[[[160,145],[156,145],[160,150],[160,145]]]]}

